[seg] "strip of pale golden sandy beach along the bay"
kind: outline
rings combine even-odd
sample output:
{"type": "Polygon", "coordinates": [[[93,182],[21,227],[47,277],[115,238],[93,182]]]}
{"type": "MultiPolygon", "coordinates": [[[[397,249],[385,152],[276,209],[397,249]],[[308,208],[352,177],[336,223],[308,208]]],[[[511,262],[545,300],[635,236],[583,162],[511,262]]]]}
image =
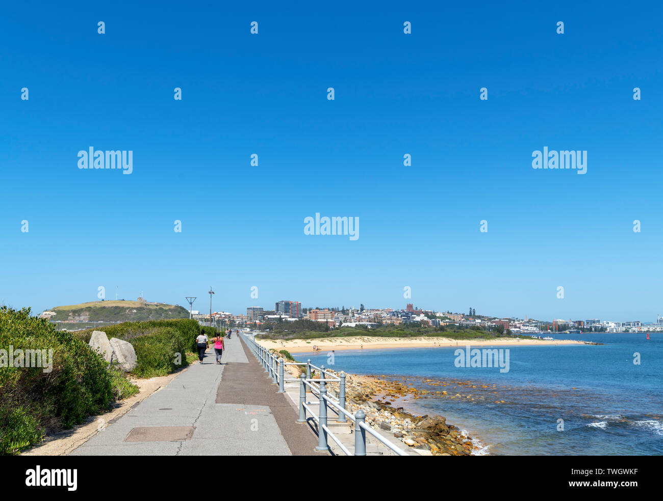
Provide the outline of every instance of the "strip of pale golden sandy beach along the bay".
{"type": "Polygon", "coordinates": [[[448,338],[379,338],[373,336],[357,336],[352,338],[316,338],[314,340],[259,340],[269,349],[286,349],[290,353],[306,353],[313,351],[316,345],[322,351],[341,349],[394,349],[394,348],[432,348],[458,346],[550,346],[550,345],[581,345],[584,341],[577,340],[538,340],[495,338],[492,340],[450,340],[448,338]]]}

